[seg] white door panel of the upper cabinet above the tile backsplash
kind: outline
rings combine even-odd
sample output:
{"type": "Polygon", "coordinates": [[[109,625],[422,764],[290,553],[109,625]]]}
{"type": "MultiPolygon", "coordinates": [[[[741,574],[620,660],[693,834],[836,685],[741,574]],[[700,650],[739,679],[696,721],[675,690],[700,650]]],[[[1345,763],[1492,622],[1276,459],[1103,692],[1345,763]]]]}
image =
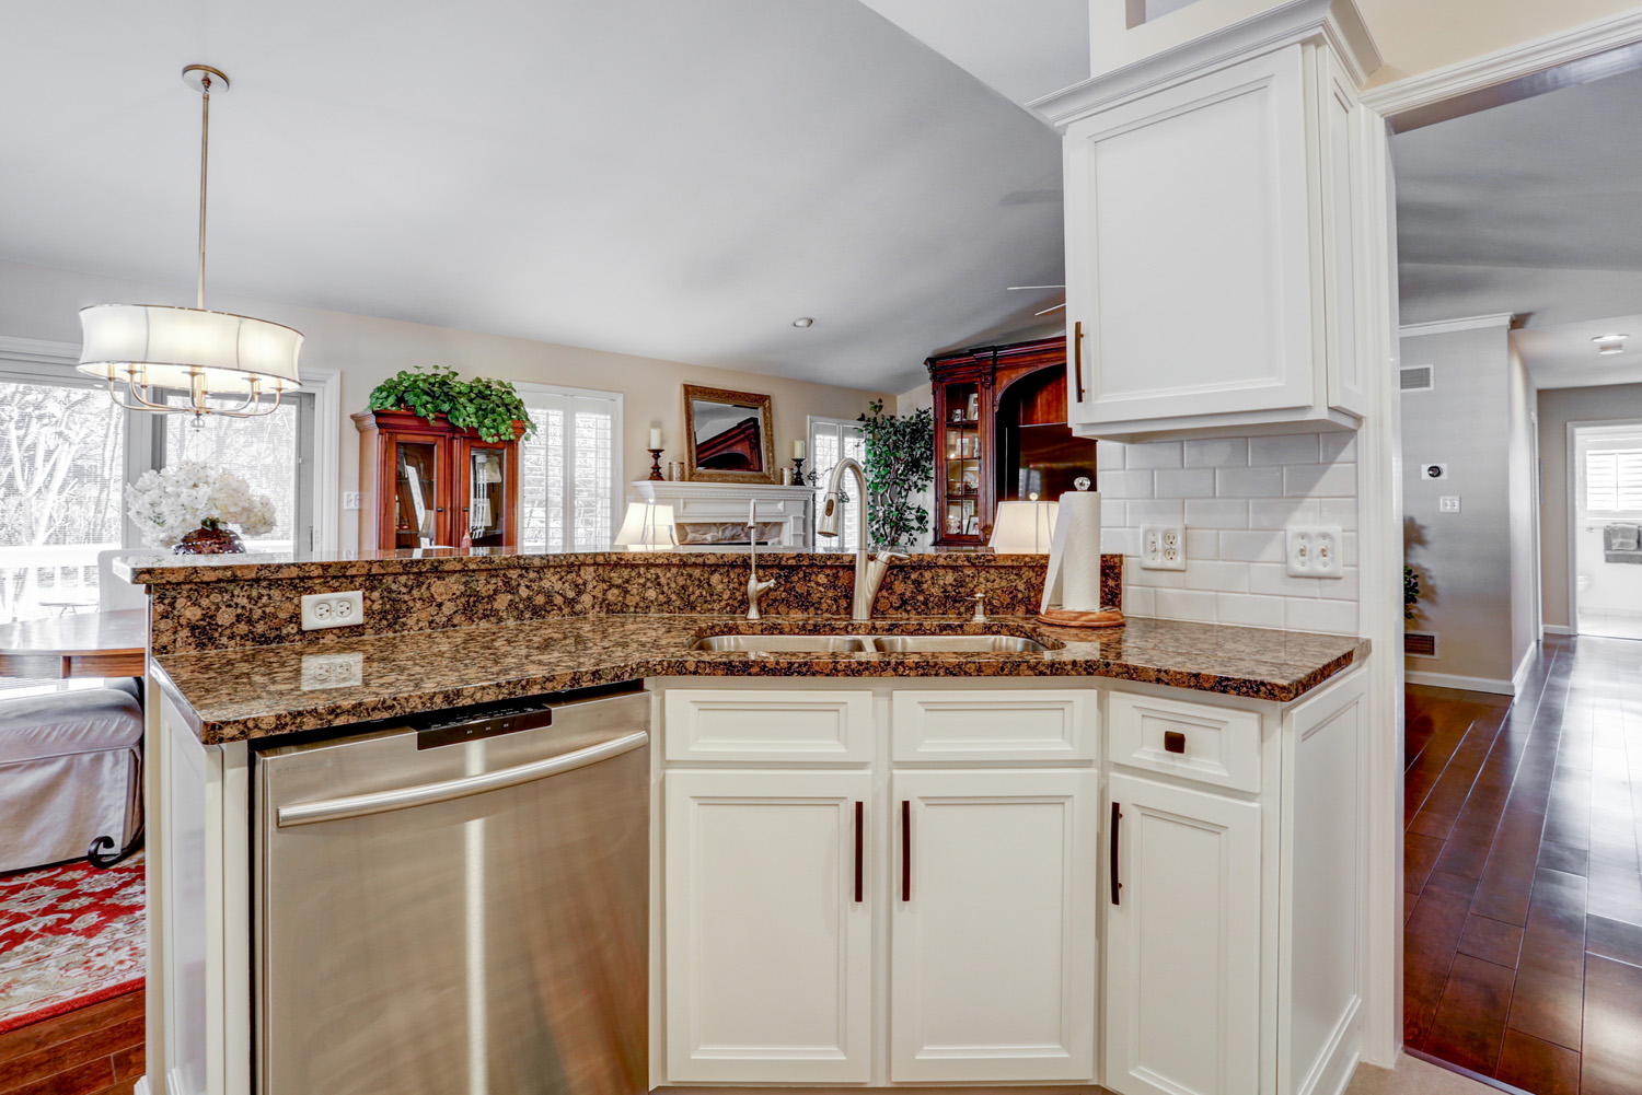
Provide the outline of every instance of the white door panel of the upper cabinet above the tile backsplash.
{"type": "Polygon", "coordinates": [[[1074,123],[1066,158],[1074,419],[1312,405],[1300,48],[1074,123]]]}

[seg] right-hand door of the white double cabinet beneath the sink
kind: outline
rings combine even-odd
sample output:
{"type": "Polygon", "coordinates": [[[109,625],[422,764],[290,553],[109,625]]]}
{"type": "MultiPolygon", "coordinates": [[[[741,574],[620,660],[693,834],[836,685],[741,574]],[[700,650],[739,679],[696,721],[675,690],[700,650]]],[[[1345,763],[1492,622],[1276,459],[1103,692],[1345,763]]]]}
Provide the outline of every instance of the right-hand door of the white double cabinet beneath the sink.
{"type": "Polygon", "coordinates": [[[890,1080],[1094,1080],[1089,770],[897,772],[890,1080]]]}

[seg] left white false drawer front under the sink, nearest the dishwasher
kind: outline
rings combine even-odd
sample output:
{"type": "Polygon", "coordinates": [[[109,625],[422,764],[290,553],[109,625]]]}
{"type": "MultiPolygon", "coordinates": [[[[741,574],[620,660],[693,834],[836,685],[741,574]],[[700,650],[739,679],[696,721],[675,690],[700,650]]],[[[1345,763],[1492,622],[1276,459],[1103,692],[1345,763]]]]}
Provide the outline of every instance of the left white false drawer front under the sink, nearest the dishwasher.
{"type": "Polygon", "coordinates": [[[870,691],[668,690],[668,760],[872,760],[870,691]]]}

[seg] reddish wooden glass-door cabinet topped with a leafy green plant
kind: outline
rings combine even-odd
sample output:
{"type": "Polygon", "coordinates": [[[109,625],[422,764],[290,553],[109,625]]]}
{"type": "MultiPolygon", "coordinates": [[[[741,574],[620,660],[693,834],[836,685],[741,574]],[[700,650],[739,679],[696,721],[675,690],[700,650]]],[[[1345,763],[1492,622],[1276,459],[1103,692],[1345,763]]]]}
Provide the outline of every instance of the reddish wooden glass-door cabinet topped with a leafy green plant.
{"type": "Polygon", "coordinates": [[[361,410],[360,548],[517,547],[519,437],[478,432],[409,410],[361,410]]]}

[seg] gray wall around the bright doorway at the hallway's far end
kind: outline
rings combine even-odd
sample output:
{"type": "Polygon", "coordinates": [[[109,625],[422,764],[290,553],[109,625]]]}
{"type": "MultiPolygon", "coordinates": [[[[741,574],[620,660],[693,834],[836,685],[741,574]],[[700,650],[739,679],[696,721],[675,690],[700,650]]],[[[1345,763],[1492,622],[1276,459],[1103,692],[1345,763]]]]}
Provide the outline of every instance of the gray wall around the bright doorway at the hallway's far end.
{"type": "Polygon", "coordinates": [[[1539,394],[1540,596],[1545,627],[1573,625],[1568,607],[1568,424],[1642,420],[1642,384],[1555,387],[1539,394]]]}

